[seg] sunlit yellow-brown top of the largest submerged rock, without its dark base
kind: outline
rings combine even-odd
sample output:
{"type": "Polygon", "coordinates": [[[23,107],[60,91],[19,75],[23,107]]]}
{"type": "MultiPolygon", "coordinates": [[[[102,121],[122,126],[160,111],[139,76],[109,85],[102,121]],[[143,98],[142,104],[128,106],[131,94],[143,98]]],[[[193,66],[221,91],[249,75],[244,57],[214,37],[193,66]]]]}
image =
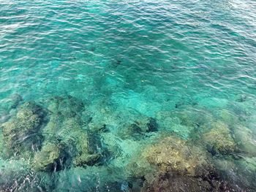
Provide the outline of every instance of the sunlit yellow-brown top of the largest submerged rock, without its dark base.
{"type": "Polygon", "coordinates": [[[206,153],[200,148],[189,146],[187,141],[178,137],[165,137],[143,150],[143,158],[157,166],[161,172],[170,170],[182,175],[200,176],[208,169],[206,153]]]}

